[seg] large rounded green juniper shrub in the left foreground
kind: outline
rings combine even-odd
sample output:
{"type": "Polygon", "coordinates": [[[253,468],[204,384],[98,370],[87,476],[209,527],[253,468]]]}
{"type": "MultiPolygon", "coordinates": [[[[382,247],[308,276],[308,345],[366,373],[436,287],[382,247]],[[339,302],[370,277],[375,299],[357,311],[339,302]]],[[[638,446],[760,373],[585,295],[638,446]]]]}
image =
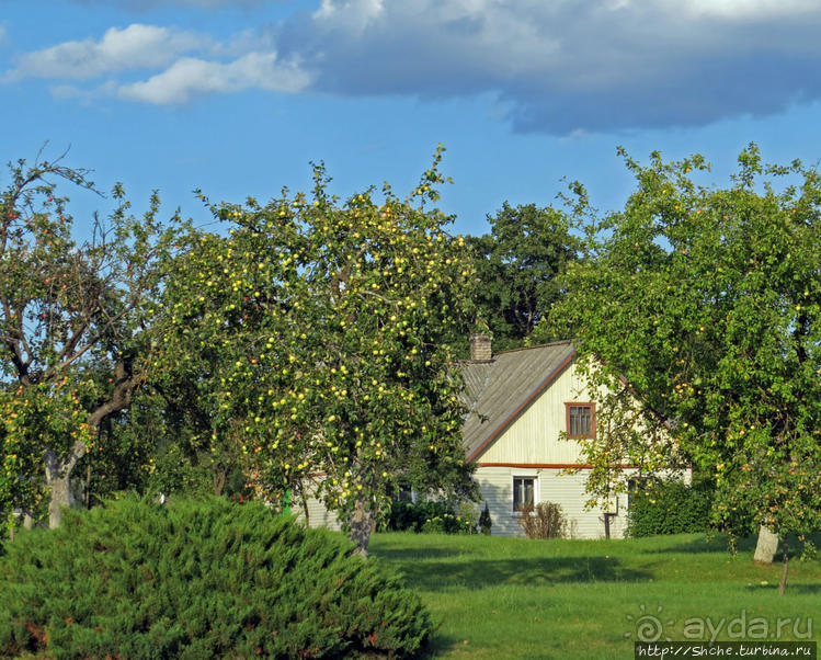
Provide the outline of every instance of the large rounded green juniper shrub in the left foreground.
{"type": "Polygon", "coordinates": [[[126,498],[21,532],[0,559],[0,657],[410,657],[420,599],[261,504],[126,498]]]}

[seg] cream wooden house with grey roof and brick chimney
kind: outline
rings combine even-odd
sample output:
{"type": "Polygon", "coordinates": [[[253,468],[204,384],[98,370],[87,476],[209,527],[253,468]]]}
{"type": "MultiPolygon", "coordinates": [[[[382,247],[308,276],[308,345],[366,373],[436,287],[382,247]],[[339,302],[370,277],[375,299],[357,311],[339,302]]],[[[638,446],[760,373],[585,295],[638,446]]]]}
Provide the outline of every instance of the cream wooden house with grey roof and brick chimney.
{"type": "MultiPolygon", "coordinates": [[[[589,510],[585,481],[590,467],[581,464],[573,437],[596,430],[596,397],[574,364],[572,342],[506,351],[493,355],[490,339],[471,337],[470,361],[463,364],[469,413],[463,426],[467,459],[476,464],[476,480],[487,503],[492,533],[521,536],[517,519],[523,504],[560,504],[569,532],[578,538],[624,536],[629,498],[614,494],[589,510]],[[565,432],[568,440],[560,439],[565,432]]],[[[625,468],[626,476],[630,474],[625,468]]],[[[635,471],[635,470],[632,470],[635,471]]]]}

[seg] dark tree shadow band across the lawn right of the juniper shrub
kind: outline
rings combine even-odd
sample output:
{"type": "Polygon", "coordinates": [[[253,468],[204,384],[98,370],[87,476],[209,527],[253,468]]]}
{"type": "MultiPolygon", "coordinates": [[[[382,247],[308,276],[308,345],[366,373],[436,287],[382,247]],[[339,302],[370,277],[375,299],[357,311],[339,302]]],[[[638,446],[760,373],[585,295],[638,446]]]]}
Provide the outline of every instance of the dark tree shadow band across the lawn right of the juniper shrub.
{"type": "Polygon", "coordinates": [[[625,582],[652,577],[645,570],[627,568],[616,558],[546,557],[512,559],[464,559],[460,561],[398,560],[390,551],[377,556],[388,559],[404,576],[406,583],[425,591],[452,587],[484,589],[499,584],[546,585],[565,582],[625,582]]]}

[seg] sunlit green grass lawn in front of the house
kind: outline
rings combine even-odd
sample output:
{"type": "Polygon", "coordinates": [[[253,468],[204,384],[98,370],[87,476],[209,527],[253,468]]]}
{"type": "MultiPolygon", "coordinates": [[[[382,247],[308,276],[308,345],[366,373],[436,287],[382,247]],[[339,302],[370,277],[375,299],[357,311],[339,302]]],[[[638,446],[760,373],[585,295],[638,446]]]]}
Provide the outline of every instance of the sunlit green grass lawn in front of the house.
{"type": "Polygon", "coordinates": [[[436,658],[632,658],[642,626],[673,640],[801,640],[811,630],[821,641],[821,561],[793,558],[779,598],[782,566],[753,564],[754,543],[732,556],[726,538],[692,534],[608,542],[386,533],[370,549],[441,623],[436,658]]]}

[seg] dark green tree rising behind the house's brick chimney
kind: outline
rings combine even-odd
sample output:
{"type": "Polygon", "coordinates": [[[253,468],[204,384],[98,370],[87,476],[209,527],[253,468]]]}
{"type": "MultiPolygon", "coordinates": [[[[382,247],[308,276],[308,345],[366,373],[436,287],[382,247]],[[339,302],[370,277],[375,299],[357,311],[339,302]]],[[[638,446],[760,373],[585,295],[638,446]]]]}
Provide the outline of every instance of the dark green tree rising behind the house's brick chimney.
{"type": "Polygon", "coordinates": [[[505,202],[488,221],[490,234],[467,239],[479,277],[477,315],[497,350],[518,348],[561,297],[558,275],[575,258],[577,241],[565,213],[552,207],[505,202]]]}

